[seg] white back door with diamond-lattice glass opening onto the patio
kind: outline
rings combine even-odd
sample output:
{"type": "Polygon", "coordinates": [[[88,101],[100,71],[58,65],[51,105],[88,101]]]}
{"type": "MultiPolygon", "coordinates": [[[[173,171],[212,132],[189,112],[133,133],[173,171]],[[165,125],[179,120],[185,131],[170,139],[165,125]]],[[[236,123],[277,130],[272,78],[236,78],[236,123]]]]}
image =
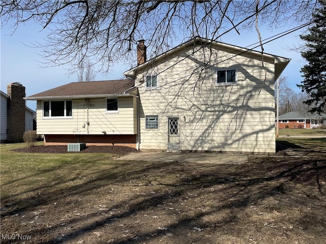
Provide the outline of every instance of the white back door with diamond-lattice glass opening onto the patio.
{"type": "Polygon", "coordinates": [[[180,151],[179,117],[168,117],[168,151],[180,151]]]}

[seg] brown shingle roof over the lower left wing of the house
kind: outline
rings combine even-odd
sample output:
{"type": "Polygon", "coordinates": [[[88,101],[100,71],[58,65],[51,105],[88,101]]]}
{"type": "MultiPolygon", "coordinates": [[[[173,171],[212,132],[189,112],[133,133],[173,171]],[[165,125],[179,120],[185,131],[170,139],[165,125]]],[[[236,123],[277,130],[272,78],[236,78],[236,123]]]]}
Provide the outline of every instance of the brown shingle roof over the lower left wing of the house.
{"type": "Polygon", "coordinates": [[[133,86],[134,80],[131,79],[72,82],[29,96],[26,99],[116,95],[125,93],[133,86]]]}

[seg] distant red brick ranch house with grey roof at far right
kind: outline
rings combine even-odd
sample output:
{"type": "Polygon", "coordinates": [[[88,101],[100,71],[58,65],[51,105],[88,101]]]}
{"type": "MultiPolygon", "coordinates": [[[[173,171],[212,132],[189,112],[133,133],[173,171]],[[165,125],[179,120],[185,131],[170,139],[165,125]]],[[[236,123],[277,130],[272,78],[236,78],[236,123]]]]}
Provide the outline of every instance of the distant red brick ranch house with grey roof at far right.
{"type": "Polygon", "coordinates": [[[279,116],[279,129],[311,129],[326,125],[326,114],[301,114],[292,111],[279,116]]]}

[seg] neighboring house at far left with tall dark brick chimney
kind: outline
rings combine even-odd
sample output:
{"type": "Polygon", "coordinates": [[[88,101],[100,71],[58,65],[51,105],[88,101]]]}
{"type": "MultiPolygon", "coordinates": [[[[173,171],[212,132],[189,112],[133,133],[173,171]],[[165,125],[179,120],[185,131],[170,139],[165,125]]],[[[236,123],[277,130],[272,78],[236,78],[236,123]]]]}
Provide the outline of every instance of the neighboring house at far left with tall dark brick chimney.
{"type": "Polygon", "coordinates": [[[36,130],[36,112],[25,106],[25,87],[20,83],[7,85],[1,92],[1,142],[22,142],[25,131],[36,130]]]}

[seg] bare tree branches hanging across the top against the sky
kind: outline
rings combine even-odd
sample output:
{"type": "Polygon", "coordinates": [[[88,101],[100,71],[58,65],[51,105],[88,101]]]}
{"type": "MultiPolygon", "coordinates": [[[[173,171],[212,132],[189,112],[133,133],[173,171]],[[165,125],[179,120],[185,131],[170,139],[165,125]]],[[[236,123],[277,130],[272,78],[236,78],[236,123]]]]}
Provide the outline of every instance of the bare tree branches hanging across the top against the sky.
{"type": "Polygon", "coordinates": [[[309,22],[318,2],[3,0],[0,6],[2,26],[13,25],[13,32],[26,21],[43,26],[47,39],[39,46],[45,66],[70,65],[73,72],[90,57],[106,73],[117,61],[134,65],[133,44],[140,39],[150,59],[178,38],[220,41],[233,30],[253,28],[258,18],[270,27],[309,22]]]}

